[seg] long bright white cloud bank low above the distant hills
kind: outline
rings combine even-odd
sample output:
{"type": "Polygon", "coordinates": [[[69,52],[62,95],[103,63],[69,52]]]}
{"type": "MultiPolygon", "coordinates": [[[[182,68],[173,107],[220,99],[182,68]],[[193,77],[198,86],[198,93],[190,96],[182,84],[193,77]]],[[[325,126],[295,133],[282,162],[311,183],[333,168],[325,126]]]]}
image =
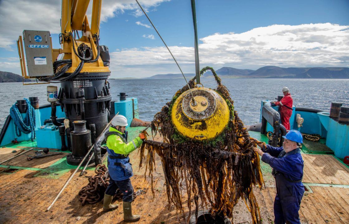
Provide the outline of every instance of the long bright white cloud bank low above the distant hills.
{"type": "MultiPolygon", "coordinates": [[[[265,65],[349,67],[349,26],[271,25],[244,33],[215,33],[200,40],[200,68],[207,65],[216,69],[223,66],[258,69],[265,65]]],[[[171,46],[170,50],[184,72],[195,71],[193,47],[171,46]]],[[[165,47],[121,49],[111,53],[113,76],[179,73],[174,65],[165,47]],[[141,69],[144,67],[147,69],[141,69]]]]}

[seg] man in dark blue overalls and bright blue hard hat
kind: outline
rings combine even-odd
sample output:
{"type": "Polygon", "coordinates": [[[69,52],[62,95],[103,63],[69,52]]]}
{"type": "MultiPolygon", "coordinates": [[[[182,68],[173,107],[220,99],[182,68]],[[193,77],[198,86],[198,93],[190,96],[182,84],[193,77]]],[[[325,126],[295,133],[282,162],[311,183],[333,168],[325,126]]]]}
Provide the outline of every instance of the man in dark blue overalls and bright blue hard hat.
{"type": "Polygon", "coordinates": [[[276,182],[274,201],[274,223],[295,224],[299,221],[299,206],[304,194],[302,183],[304,162],[299,146],[303,143],[302,134],[290,130],[284,138],[283,147],[258,144],[254,151],[262,156],[262,161],[273,168],[276,182]]]}

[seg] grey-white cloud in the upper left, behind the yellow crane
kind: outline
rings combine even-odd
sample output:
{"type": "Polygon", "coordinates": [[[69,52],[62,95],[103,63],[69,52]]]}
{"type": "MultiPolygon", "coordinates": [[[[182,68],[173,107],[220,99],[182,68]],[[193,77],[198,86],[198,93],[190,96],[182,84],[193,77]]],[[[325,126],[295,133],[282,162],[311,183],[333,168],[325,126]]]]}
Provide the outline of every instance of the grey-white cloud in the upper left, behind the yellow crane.
{"type": "MultiPolygon", "coordinates": [[[[145,10],[157,7],[161,2],[169,0],[142,0],[140,4],[145,10]]],[[[87,10],[91,21],[91,5],[87,10]]],[[[135,16],[141,16],[142,11],[134,0],[103,0],[101,22],[126,10],[135,11],[135,16]]],[[[60,33],[61,1],[58,0],[0,0],[0,48],[13,50],[23,30],[49,30],[60,33]]]]}

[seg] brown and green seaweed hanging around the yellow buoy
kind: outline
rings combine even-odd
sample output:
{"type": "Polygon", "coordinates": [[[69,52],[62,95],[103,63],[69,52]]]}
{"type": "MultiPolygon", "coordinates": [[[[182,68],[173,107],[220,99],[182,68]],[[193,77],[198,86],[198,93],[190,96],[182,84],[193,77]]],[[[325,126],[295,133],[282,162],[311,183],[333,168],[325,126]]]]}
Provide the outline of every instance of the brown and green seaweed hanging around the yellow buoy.
{"type": "MultiPolygon", "coordinates": [[[[253,188],[258,184],[261,189],[264,181],[259,156],[253,151],[256,142],[244,128],[234,110],[227,87],[222,85],[214,69],[203,68],[200,75],[207,70],[213,73],[218,84],[215,91],[224,98],[230,110],[229,122],[224,131],[213,140],[198,141],[186,138],[176,130],[171,121],[171,109],[178,96],[188,90],[188,86],[184,86],[154,116],[151,130],[153,134],[159,133],[163,136],[163,142],[144,140],[140,149],[140,167],[146,160],[146,172],[148,170],[153,182],[155,152],[161,157],[168,201],[177,210],[183,211],[181,188],[185,187],[189,217],[193,200],[196,216],[199,206],[204,206],[211,207],[213,215],[232,218],[233,207],[241,198],[251,213],[253,223],[260,223],[259,207],[253,188]],[[145,149],[148,150],[147,157],[144,155],[145,149]]],[[[191,89],[195,88],[195,77],[188,85],[191,89]]],[[[151,187],[153,190],[153,183],[151,187]]]]}

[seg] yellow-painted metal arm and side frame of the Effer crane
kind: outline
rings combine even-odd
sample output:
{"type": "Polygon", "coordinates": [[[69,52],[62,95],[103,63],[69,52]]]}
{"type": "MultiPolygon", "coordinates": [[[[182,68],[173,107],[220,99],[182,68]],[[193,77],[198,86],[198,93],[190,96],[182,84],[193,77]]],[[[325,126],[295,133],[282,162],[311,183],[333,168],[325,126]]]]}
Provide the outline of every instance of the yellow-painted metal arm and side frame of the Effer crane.
{"type": "MultiPolygon", "coordinates": [[[[99,23],[101,20],[102,0],[93,0],[92,4],[92,22],[91,28],[86,16],[90,0],[62,0],[62,14],[61,14],[61,33],[62,33],[62,48],[52,49],[52,60],[55,61],[59,54],[64,53],[63,59],[71,59],[72,67],[67,70],[67,73],[73,73],[79,66],[81,60],[74,53],[77,51],[77,47],[84,43],[88,45],[93,52],[93,55],[97,55],[97,44],[95,34],[99,35],[99,23]],[[79,40],[74,40],[69,33],[73,30],[81,30],[82,37],[79,40]],[[74,41],[74,42],[73,42],[74,41]]],[[[50,37],[51,46],[52,38],[50,37]]],[[[23,85],[34,84],[47,84],[43,83],[29,83],[25,84],[24,80],[30,77],[27,75],[25,67],[24,49],[22,36],[19,36],[17,40],[18,55],[20,57],[21,72],[23,77],[23,85]]],[[[85,63],[80,72],[109,72],[109,67],[105,67],[101,57],[94,63],[85,63]]]]}

